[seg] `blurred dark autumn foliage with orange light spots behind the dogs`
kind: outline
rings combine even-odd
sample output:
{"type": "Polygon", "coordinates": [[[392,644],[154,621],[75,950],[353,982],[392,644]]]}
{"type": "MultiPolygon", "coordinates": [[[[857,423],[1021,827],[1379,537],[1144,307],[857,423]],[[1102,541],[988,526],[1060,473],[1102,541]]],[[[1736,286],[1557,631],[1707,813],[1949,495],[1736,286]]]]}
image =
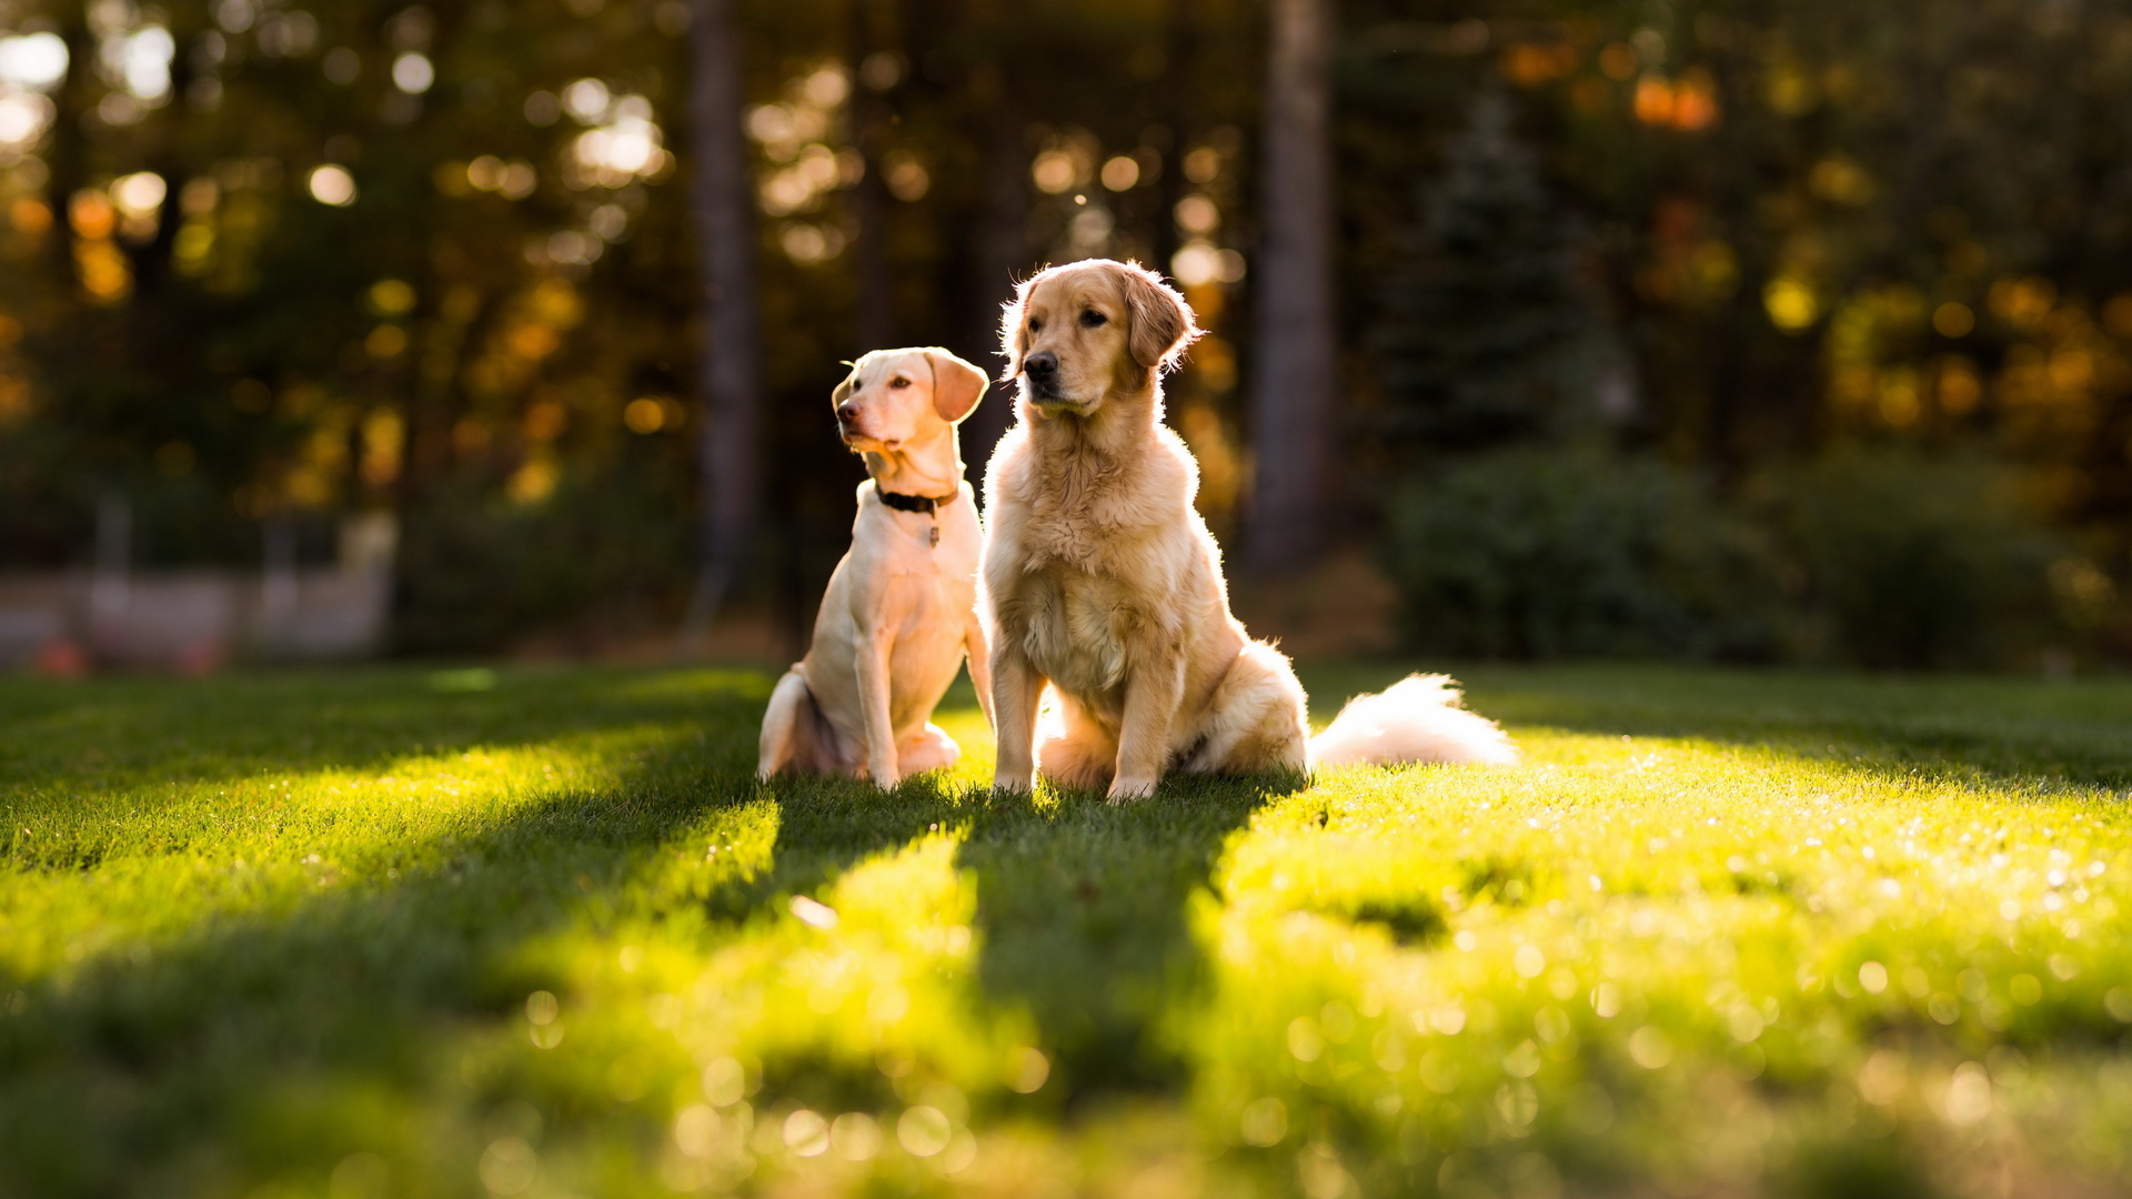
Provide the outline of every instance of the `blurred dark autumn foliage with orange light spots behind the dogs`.
{"type": "MultiPolygon", "coordinates": [[[[145,561],[256,561],[284,512],[390,508],[414,548],[482,527],[452,512],[471,495],[644,486],[627,506],[663,527],[618,540],[644,555],[631,589],[678,604],[687,21],[682,0],[0,2],[0,563],[79,561],[100,495],[162,506],[166,482],[196,514],[145,521],[145,561]]],[[[842,544],[859,471],[819,405],[857,331],[989,361],[1008,277],[1043,260],[1143,256],[1188,286],[1215,335],[1170,414],[1213,527],[1247,518],[1260,9],[742,0],[740,21],[778,523],[759,597],[810,606],[842,544]]],[[[2081,644],[2132,646],[2132,2],[1354,0],[1341,21],[1358,527],[1403,476],[1565,437],[1725,497],[1836,444],[1978,452],[2077,546],[2053,587],[2081,644]]],[[[979,412],[972,467],[1004,420],[979,412]]],[[[424,595],[544,587],[499,555],[424,559],[467,578],[411,587],[403,623],[458,619],[424,595]]],[[[482,640],[559,604],[501,604],[522,617],[482,640]]]]}

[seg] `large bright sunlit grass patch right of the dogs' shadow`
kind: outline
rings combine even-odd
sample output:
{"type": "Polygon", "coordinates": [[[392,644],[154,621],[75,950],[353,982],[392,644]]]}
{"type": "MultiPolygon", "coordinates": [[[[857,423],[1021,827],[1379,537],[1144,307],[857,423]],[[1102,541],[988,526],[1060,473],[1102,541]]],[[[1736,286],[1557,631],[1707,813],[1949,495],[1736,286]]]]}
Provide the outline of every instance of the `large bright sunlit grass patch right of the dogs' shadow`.
{"type": "Polygon", "coordinates": [[[1281,1146],[1290,1112],[1330,1107],[1364,1190],[1661,1167],[1701,1186],[1859,1126],[1932,1141],[2036,1116],[1987,1101],[1993,1052],[2000,1073],[2042,1050],[2072,1092],[2117,1086],[2121,796],[1693,742],[1527,747],[1522,772],[1414,770],[1426,809],[1396,772],[1328,779],[1337,800],[1296,796],[1232,845],[1226,902],[1200,909],[1222,998],[1188,1030],[1232,1139],[1281,1146]],[[1437,900],[1441,947],[1367,917],[1392,879],[1437,900]],[[1691,1141],[1706,1156],[1669,1163],[1691,1141]]]}

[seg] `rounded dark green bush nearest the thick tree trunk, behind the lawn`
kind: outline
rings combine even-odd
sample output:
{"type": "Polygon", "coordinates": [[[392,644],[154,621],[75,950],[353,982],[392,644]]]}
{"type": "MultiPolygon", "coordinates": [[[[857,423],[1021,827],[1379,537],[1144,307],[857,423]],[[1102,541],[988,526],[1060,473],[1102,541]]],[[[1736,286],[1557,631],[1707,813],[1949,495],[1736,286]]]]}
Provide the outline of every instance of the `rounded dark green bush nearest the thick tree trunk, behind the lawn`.
{"type": "Polygon", "coordinates": [[[1512,659],[1787,649],[1767,540],[1699,478],[1657,461],[1490,454],[1399,493],[1388,533],[1418,649],[1512,659]]]}

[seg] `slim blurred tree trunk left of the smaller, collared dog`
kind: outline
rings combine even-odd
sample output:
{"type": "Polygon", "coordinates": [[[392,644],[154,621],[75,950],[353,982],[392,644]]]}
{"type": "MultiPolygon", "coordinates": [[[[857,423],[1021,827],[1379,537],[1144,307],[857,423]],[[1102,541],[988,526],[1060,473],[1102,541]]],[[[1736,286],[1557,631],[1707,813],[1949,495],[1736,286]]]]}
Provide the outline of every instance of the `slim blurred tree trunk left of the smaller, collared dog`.
{"type": "Polygon", "coordinates": [[[689,119],[695,224],[704,286],[704,343],[697,356],[701,548],[682,649],[701,646],[740,576],[761,463],[761,369],[755,314],[755,220],[746,147],[740,141],[740,34],[733,0],[695,0],[689,23],[693,70],[689,119]]]}

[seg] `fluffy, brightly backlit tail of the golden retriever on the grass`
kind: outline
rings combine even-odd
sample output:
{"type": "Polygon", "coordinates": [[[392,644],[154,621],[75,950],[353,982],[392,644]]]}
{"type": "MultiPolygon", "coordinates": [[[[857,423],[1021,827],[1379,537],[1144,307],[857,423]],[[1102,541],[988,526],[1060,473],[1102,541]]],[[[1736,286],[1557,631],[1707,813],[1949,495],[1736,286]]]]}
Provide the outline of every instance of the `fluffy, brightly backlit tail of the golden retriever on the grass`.
{"type": "Polygon", "coordinates": [[[1356,696],[1311,738],[1313,770],[1360,762],[1507,766],[1516,760],[1518,747],[1495,721],[1458,706],[1458,683],[1448,674],[1409,674],[1375,696],[1356,696]]]}

